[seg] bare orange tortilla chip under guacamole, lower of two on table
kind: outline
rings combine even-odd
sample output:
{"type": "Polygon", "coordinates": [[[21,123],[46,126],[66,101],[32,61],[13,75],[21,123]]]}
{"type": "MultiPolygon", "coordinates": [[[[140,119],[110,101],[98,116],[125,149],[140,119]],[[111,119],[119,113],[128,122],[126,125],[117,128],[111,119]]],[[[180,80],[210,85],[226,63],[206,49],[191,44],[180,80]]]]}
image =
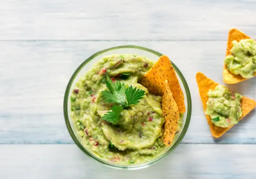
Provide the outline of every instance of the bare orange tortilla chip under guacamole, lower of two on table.
{"type": "MultiPolygon", "coordinates": [[[[198,84],[198,88],[199,88],[199,94],[203,103],[203,107],[204,107],[204,111],[207,108],[206,102],[208,101],[208,91],[209,89],[215,89],[215,87],[217,85],[219,85],[218,83],[212,81],[211,79],[207,78],[203,73],[198,72],[197,73],[197,84],[198,84]]],[[[243,117],[245,117],[252,109],[254,109],[254,107],[256,107],[256,102],[252,99],[243,97],[241,99],[241,108],[243,110],[243,114],[241,116],[241,118],[239,120],[241,120],[243,117]]],[[[218,127],[215,126],[214,123],[211,122],[211,118],[208,115],[205,115],[208,125],[210,127],[210,131],[212,136],[219,138],[223,135],[223,133],[225,133],[228,129],[230,129],[232,126],[230,127],[218,127]]]]}

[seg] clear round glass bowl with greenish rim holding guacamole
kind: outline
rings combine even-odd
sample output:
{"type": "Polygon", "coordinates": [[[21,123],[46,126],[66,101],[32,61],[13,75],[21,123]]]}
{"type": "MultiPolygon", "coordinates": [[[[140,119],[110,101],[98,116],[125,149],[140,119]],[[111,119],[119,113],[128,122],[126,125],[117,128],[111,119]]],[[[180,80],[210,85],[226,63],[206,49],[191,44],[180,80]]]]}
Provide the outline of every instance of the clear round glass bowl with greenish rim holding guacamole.
{"type": "Polygon", "coordinates": [[[91,153],[89,150],[87,150],[86,147],[84,147],[80,140],[80,137],[77,135],[77,132],[75,131],[74,123],[70,117],[71,109],[70,109],[70,95],[72,94],[73,88],[75,86],[75,83],[78,81],[78,79],[83,76],[84,74],[87,73],[88,70],[92,68],[95,62],[97,62],[99,59],[101,59],[105,55],[112,55],[112,54],[138,54],[138,55],[143,55],[146,56],[147,58],[150,58],[154,61],[157,61],[160,56],[163,54],[150,50],[144,47],[139,47],[139,46],[118,46],[118,47],[113,47],[110,49],[102,50],[100,52],[97,52],[90,56],[88,59],[82,62],[76,69],[76,71],[73,73],[72,77],[69,80],[68,86],[66,88],[65,92],[65,97],[64,97],[64,104],[63,104],[63,110],[64,110],[64,117],[65,117],[65,122],[67,125],[67,128],[69,130],[70,136],[75,142],[75,144],[88,156],[91,156],[93,159],[99,161],[100,163],[113,167],[113,168],[118,168],[118,169],[141,169],[150,166],[153,163],[156,163],[160,159],[162,159],[164,156],[166,156],[168,153],[172,152],[182,141],[183,137],[185,136],[185,133],[187,131],[189,122],[190,122],[190,117],[191,117],[191,97],[190,97],[190,92],[189,88],[187,85],[187,82],[180,72],[180,70],[177,68],[177,66],[172,62],[174,69],[178,75],[180,85],[182,88],[182,91],[184,93],[184,98],[185,98],[185,105],[186,105],[186,112],[183,116],[183,125],[181,128],[181,131],[177,133],[175,136],[174,142],[171,146],[166,147],[166,149],[163,151],[161,155],[156,156],[155,159],[153,159],[150,162],[140,164],[140,165],[132,165],[132,166],[123,166],[123,165],[118,165],[114,163],[109,163],[107,161],[104,161],[98,156],[94,155],[91,153]]]}

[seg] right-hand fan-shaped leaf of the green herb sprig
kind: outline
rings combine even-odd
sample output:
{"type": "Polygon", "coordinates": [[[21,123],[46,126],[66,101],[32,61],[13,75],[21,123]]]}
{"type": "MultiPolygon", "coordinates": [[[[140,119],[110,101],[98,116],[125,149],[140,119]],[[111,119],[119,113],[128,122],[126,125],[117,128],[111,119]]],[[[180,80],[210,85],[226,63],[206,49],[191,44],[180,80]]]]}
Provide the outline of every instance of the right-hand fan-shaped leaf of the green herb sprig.
{"type": "Polygon", "coordinates": [[[140,99],[145,95],[145,91],[142,89],[137,89],[137,87],[133,88],[133,86],[129,86],[125,89],[126,99],[129,105],[138,104],[140,99]]]}

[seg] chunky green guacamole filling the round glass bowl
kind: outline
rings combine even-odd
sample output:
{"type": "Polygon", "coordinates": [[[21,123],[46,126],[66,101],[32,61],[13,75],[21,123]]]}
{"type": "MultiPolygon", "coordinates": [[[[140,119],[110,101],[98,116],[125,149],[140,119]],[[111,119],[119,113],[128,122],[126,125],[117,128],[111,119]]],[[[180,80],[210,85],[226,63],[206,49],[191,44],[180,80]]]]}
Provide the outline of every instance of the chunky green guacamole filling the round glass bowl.
{"type": "MultiPolygon", "coordinates": [[[[153,64],[152,60],[138,55],[104,56],[76,83],[70,99],[71,118],[81,143],[94,155],[111,163],[134,165],[149,162],[165,151],[162,97],[151,94],[138,83],[153,64]],[[101,92],[107,90],[106,73],[126,88],[132,85],[145,91],[138,104],[121,111],[116,125],[101,119],[115,105],[102,98],[101,92]]],[[[180,114],[177,132],[182,118],[180,114]]]]}

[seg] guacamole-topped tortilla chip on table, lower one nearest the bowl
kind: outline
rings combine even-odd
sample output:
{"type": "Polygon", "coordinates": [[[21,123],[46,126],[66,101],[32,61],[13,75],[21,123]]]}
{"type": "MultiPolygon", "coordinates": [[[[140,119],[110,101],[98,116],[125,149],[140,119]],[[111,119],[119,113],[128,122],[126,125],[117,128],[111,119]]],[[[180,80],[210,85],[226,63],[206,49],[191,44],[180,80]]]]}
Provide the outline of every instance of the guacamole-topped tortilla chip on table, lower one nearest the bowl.
{"type": "MultiPolygon", "coordinates": [[[[231,123],[231,120],[229,118],[235,117],[233,119],[236,119],[237,116],[240,116],[239,110],[242,111],[242,116],[238,120],[241,120],[256,107],[256,101],[249,99],[245,96],[242,97],[239,94],[235,95],[229,92],[225,86],[219,85],[215,81],[207,78],[201,72],[197,73],[196,79],[204,112],[206,112],[207,110],[207,114],[205,113],[205,117],[209,125],[211,135],[215,138],[221,137],[227,130],[229,130],[233,126],[229,125],[231,123]],[[238,101],[240,101],[241,104],[239,104],[238,101],[232,101],[235,100],[236,97],[239,99],[238,101]],[[241,109],[239,108],[239,106],[241,107],[241,109]],[[224,110],[230,111],[231,114],[227,114],[224,110]],[[237,111],[237,113],[235,111],[237,111]],[[211,116],[209,116],[208,114],[211,116]],[[222,117],[226,117],[226,124],[229,125],[228,127],[217,126],[218,122],[220,124],[221,120],[224,120],[224,118],[222,117]]],[[[232,123],[236,123],[236,121],[232,121],[232,123]]],[[[226,125],[225,120],[222,125],[223,124],[226,125]]]]}

